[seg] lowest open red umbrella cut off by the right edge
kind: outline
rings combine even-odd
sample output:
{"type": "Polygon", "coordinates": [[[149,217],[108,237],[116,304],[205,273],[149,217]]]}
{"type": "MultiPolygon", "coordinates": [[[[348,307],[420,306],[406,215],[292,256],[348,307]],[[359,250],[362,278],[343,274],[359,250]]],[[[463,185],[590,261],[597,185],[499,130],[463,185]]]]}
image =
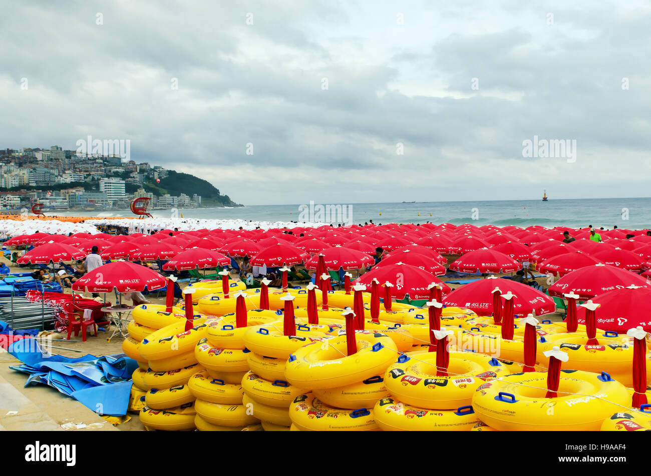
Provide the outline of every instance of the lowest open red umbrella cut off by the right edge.
{"type": "MultiPolygon", "coordinates": [[[[600,304],[594,311],[597,328],[626,334],[632,327],[642,326],[651,330],[651,288],[635,285],[613,289],[592,298],[600,304]]],[[[585,308],[579,306],[576,313],[579,324],[585,324],[585,308]]]]}

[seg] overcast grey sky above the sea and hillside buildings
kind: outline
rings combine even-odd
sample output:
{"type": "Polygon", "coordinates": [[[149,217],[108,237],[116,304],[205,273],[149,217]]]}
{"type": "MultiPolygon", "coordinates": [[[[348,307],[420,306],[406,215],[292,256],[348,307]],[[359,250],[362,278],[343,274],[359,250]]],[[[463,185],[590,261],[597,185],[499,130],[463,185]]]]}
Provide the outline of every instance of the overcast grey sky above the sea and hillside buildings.
{"type": "Polygon", "coordinates": [[[246,205],[648,196],[646,1],[42,3],[2,5],[0,148],[130,139],[246,205]]]}

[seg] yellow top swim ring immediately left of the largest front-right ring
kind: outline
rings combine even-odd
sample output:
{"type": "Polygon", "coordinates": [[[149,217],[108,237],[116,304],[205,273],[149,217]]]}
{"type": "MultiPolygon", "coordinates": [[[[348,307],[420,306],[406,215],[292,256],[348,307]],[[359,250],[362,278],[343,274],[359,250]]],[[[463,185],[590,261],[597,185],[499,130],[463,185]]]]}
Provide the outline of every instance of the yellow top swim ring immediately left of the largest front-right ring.
{"type": "Polygon", "coordinates": [[[452,410],[470,403],[487,380],[521,371],[515,364],[475,352],[450,352],[447,377],[437,376],[436,352],[401,355],[387,369],[385,384],[398,401],[432,410],[452,410]]]}

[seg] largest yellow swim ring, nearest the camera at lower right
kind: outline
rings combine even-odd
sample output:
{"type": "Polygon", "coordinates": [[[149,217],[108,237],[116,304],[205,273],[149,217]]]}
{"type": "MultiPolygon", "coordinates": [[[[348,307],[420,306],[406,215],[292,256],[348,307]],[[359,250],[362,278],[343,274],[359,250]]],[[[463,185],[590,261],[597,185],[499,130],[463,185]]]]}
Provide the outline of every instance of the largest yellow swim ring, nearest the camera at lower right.
{"type": "Polygon", "coordinates": [[[546,394],[546,372],[516,373],[478,386],[472,404],[481,421],[500,431],[599,430],[630,404],[626,387],[605,372],[562,369],[558,397],[546,394]]]}

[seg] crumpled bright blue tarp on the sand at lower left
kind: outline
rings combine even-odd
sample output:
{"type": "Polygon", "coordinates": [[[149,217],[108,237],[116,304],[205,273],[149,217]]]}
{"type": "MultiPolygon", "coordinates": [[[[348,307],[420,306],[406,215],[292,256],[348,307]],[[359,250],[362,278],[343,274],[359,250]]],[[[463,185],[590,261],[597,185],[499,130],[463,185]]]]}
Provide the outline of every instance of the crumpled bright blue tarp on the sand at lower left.
{"type": "Polygon", "coordinates": [[[25,387],[46,384],[84,404],[100,415],[126,415],[131,393],[131,375],[138,364],[124,354],[79,358],[52,355],[33,341],[9,346],[9,353],[23,365],[9,367],[29,377],[25,387]]]}

